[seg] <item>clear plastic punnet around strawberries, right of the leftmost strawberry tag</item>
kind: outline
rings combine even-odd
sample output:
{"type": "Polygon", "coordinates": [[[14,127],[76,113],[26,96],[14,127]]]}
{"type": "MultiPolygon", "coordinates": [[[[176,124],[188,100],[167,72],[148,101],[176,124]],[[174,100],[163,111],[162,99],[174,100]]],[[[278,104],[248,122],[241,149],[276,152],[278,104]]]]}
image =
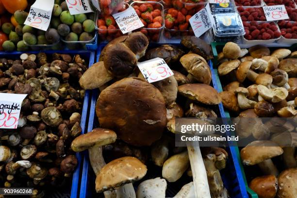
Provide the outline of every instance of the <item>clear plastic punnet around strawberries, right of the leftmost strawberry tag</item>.
{"type": "MultiPolygon", "coordinates": [[[[144,33],[149,41],[152,42],[158,42],[161,36],[161,33],[164,29],[165,23],[164,23],[164,7],[163,4],[157,1],[134,1],[131,3],[130,6],[140,6],[141,4],[151,4],[153,6],[153,9],[158,9],[161,11],[161,16],[162,16],[162,26],[160,28],[148,28],[148,27],[143,27],[140,29],[136,29],[133,32],[142,32],[144,33]]],[[[140,16],[141,18],[141,16],[140,16]]]]}

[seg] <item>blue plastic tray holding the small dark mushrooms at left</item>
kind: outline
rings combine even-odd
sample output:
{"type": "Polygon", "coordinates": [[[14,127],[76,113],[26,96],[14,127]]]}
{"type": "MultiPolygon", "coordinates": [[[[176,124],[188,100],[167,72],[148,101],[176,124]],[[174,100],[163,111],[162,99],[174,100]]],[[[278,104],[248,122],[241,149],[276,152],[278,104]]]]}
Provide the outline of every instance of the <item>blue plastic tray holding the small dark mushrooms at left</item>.
{"type": "MultiPolygon", "coordinates": [[[[40,51],[26,51],[26,53],[30,54],[37,54],[40,51]]],[[[94,64],[95,60],[95,52],[94,51],[87,51],[87,50],[42,50],[42,52],[45,52],[48,54],[53,53],[66,53],[71,56],[80,54],[82,59],[88,63],[89,66],[92,66],[94,64]]],[[[14,51],[14,52],[0,52],[0,58],[12,58],[15,59],[16,57],[19,57],[22,53],[20,51],[14,51]]],[[[81,127],[82,127],[82,133],[86,130],[86,122],[87,122],[87,111],[88,111],[88,105],[89,105],[89,99],[90,99],[90,90],[86,90],[83,105],[82,105],[82,119],[81,119],[81,127]]],[[[81,177],[81,165],[82,165],[82,153],[76,153],[76,157],[78,159],[77,168],[75,169],[73,176],[72,176],[72,184],[71,188],[61,191],[55,191],[55,192],[47,192],[46,197],[48,198],[77,198],[78,192],[79,192],[79,181],[81,177]]]]}

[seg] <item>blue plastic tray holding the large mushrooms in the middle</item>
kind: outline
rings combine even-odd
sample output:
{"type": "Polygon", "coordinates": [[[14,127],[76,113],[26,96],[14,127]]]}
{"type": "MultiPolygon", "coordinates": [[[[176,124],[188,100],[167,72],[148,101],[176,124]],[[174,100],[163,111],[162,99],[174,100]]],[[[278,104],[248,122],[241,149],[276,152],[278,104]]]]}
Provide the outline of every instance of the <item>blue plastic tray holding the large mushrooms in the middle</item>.
{"type": "MultiPolygon", "coordinates": [[[[98,51],[97,51],[97,61],[99,60],[100,52],[106,44],[100,44],[98,51]]],[[[150,45],[149,47],[156,47],[157,44],[150,45]]],[[[212,68],[212,63],[210,62],[210,66],[212,68]]],[[[214,79],[214,74],[213,74],[214,79]]],[[[217,89],[217,83],[213,81],[214,88],[217,89]]],[[[87,131],[90,132],[93,128],[97,127],[98,119],[95,112],[95,106],[98,99],[99,91],[98,89],[94,89],[92,91],[92,98],[90,104],[90,114],[89,114],[89,122],[87,131]]],[[[214,109],[218,116],[222,115],[224,117],[223,106],[220,103],[216,109],[214,109]]],[[[242,178],[240,172],[240,166],[236,158],[233,156],[235,155],[235,149],[231,147],[226,148],[229,159],[227,161],[226,168],[220,171],[222,180],[224,182],[225,187],[227,188],[231,198],[248,198],[247,191],[245,188],[244,180],[242,178]]],[[[146,175],[146,179],[160,177],[160,175],[156,175],[157,173],[161,173],[162,168],[156,168],[153,171],[149,171],[146,175]]],[[[96,176],[93,172],[93,169],[89,163],[88,159],[88,151],[84,151],[84,159],[82,165],[82,182],[81,182],[81,189],[80,189],[80,198],[90,198],[90,197],[100,197],[99,194],[95,192],[95,179],[96,176]]],[[[180,180],[174,183],[167,183],[166,189],[166,197],[174,197],[176,193],[181,189],[182,185],[190,182],[190,178],[182,177],[180,180]],[[180,180],[183,180],[182,183],[180,180]]],[[[135,185],[134,185],[135,186],[135,185]]],[[[102,195],[101,195],[102,196],[102,195]]]]}

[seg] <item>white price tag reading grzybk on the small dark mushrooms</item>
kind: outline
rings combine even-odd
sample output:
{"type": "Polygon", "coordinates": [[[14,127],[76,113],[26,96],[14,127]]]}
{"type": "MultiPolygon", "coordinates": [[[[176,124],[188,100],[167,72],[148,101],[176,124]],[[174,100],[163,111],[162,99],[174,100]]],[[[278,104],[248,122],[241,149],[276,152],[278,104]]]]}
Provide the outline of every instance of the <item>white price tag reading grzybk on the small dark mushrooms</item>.
{"type": "Polygon", "coordinates": [[[0,93],[0,128],[16,129],[23,99],[27,94],[0,93]]]}

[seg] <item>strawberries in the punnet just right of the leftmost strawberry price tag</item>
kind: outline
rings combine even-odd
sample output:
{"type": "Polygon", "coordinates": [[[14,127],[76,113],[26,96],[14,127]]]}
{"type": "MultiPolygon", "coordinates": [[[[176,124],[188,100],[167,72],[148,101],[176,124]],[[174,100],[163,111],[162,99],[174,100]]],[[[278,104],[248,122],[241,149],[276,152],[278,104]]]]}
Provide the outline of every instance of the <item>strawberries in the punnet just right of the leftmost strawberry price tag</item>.
{"type": "Polygon", "coordinates": [[[137,3],[133,4],[133,8],[144,24],[144,28],[135,31],[144,33],[148,37],[148,40],[158,41],[163,26],[162,8],[160,4],[137,3]]]}

